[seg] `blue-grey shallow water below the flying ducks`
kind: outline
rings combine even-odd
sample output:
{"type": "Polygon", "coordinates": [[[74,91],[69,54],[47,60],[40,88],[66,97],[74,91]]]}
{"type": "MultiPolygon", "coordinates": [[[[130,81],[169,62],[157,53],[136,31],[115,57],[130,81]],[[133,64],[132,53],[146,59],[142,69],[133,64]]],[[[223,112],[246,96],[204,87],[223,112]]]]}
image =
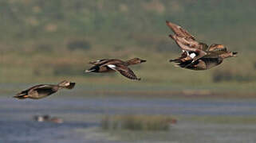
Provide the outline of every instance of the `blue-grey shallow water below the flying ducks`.
{"type": "MultiPolygon", "coordinates": [[[[52,98],[17,100],[0,98],[0,142],[130,142],[98,133],[104,114],[170,114],[190,116],[256,115],[254,100],[52,98]],[[50,114],[64,119],[62,124],[34,122],[33,115],[50,114]],[[81,131],[82,130],[82,131],[81,131]]],[[[180,121],[170,132],[178,142],[254,142],[256,125],[206,124],[180,121]],[[186,137],[184,137],[186,135],[186,137]],[[203,137],[202,137],[203,135],[203,137]]],[[[162,140],[157,133],[152,141],[162,140]]],[[[168,139],[168,137],[167,137],[168,139]]],[[[170,141],[170,140],[168,140],[170,141]]],[[[136,141],[132,141],[136,142],[136,141]]],[[[140,141],[139,141],[140,142],[140,141]]],[[[149,141],[145,141],[149,142],[149,141]]]]}

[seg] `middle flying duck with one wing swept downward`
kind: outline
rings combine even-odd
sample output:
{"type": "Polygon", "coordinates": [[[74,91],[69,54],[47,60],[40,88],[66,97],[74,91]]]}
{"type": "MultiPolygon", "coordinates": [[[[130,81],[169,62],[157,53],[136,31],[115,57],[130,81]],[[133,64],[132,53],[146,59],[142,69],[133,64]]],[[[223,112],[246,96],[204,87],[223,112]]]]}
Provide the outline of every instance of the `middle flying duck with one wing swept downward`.
{"type": "Polygon", "coordinates": [[[128,68],[128,66],[132,64],[141,64],[144,62],[146,62],[146,60],[141,60],[139,58],[134,58],[127,61],[118,59],[96,60],[89,62],[89,64],[93,64],[94,66],[85,72],[120,72],[121,75],[124,75],[128,79],[140,80],[140,78],[137,78],[132,70],[128,68]]]}

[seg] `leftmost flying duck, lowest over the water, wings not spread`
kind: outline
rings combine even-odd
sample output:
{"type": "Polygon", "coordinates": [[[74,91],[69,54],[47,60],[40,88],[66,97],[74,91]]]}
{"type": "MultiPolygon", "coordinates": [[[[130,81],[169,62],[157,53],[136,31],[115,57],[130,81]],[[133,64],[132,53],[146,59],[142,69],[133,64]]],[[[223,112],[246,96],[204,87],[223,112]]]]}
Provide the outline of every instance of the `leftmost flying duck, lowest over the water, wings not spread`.
{"type": "Polygon", "coordinates": [[[73,89],[76,83],[71,83],[66,80],[58,84],[40,84],[30,87],[25,91],[19,92],[14,98],[17,99],[41,99],[57,92],[61,88],[73,89]]]}

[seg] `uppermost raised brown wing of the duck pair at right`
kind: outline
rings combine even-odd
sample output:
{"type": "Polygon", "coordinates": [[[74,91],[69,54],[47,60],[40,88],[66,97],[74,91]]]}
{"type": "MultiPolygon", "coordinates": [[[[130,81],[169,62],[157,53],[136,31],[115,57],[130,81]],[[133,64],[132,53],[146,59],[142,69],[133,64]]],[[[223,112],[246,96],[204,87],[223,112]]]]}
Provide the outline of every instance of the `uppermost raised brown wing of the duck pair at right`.
{"type": "Polygon", "coordinates": [[[179,37],[185,37],[186,39],[191,39],[195,41],[195,37],[191,35],[191,33],[188,33],[186,29],[183,29],[179,25],[175,25],[174,23],[171,23],[170,21],[166,21],[167,26],[175,33],[175,35],[179,37]]]}

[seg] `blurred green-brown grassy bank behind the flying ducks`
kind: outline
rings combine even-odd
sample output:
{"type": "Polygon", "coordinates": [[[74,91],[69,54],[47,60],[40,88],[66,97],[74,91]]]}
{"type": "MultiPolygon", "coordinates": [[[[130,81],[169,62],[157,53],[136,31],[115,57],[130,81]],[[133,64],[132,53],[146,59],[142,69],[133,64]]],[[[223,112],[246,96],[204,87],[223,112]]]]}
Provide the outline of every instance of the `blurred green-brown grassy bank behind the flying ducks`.
{"type": "Polygon", "coordinates": [[[2,0],[0,83],[68,79],[90,92],[112,95],[256,97],[255,6],[253,0],[2,0]],[[166,20],[198,41],[225,44],[238,57],[208,71],[175,68],[168,60],[180,49],[167,37],[166,20]],[[132,67],[141,81],[117,73],[83,73],[91,60],[133,57],[148,60],[132,67]]]}

